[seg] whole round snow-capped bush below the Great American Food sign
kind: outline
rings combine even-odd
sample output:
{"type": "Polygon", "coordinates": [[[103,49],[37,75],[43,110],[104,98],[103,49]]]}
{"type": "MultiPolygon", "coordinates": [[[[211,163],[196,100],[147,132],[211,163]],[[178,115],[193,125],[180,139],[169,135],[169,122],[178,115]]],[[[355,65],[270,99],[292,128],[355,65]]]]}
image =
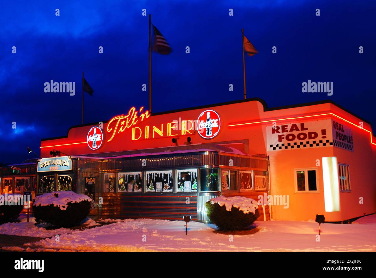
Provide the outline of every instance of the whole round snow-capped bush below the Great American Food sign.
{"type": "Polygon", "coordinates": [[[72,227],[88,216],[90,202],[90,197],[73,191],[50,192],[35,197],[33,214],[36,223],[72,227]]]}

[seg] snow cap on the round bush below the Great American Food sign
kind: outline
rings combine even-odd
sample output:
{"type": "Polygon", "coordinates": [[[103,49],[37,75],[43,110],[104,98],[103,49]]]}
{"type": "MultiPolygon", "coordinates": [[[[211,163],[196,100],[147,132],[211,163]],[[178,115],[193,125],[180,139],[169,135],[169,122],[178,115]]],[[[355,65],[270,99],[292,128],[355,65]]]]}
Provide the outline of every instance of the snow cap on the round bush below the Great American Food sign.
{"type": "Polygon", "coordinates": [[[62,211],[65,211],[68,203],[79,203],[85,200],[91,202],[91,198],[89,196],[77,194],[73,191],[58,191],[35,197],[33,206],[54,205],[62,211]]]}

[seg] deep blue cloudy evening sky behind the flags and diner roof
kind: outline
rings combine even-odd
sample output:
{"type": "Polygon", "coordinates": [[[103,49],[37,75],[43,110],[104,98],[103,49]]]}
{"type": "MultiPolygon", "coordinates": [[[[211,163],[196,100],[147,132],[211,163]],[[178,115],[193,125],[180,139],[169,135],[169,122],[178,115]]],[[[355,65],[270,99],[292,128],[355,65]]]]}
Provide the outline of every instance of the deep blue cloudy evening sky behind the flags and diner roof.
{"type": "Polygon", "coordinates": [[[375,130],[374,1],[3,2],[0,163],[35,157],[27,146],[39,153],[41,138],[64,136],[80,124],[82,71],[95,91],[85,95],[84,122],[147,107],[148,93],[141,90],[148,84],[144,8],[173,47],[168,56],[153,53],[153,112],[243,98],[244,28],[259,50],[246,57],[249,98],[262,98],[268,107],[331,99],[375,130]],[[76,95],[45,93],[50,79],[76,82],[76,95]],[[302,93],[308,79],[333,82],[334,94],[302,93]]]}

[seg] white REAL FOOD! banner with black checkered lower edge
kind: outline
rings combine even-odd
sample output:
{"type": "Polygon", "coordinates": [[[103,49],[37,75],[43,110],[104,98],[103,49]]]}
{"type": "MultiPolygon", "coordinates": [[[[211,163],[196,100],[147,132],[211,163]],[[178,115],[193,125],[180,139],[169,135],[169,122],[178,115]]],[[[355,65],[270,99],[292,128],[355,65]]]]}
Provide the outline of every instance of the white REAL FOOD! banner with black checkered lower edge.
{"type": "Polygon", "coordinates": [[[296,122],[266,128],[268,151],[320,148],[333,145],[331,120],[296,122]]]}

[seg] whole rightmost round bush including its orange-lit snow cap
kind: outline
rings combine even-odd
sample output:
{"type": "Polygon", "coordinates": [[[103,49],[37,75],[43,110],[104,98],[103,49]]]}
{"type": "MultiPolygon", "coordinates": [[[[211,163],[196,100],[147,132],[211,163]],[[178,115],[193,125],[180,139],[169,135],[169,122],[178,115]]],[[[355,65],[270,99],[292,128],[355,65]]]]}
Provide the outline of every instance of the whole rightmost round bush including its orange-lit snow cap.
{"type": "Polygon", "coordinates": [[[244,230],[259,217],[257,202],[251,198],[221,196],[205,205],[209,219],[223,230],[244,230]]]}

